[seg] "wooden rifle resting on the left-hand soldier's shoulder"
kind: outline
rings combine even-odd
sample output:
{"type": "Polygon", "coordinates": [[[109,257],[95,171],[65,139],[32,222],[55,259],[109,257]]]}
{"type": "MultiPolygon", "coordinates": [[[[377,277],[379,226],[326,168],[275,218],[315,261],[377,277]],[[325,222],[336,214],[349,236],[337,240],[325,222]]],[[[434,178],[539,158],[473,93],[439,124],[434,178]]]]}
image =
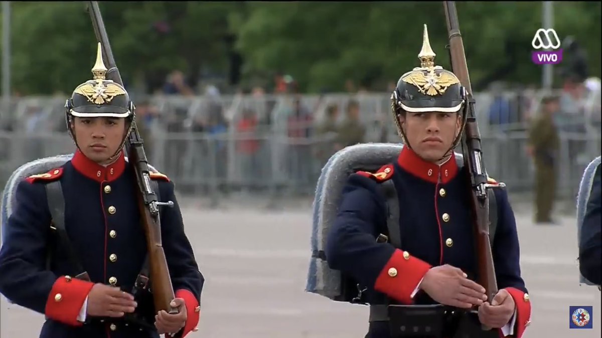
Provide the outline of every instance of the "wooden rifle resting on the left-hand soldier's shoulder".
{"type": "MultiPolygon", "coordinates": [[[[102,21],[101,10],[97,1],[88,1],[88,11],[92,18],[92,25],[96,39],[102,45],[103,59],[106,60],[107,79],[123,85],[119,69],[115,64],[113,52],[107,29],[102,21]]],[[[134,105],[131,106],[134,114],[134,105]]],[[[143,140],[138,133],[135,115],[132,118],[131,131],[126,141],[126,150],[128,152],[128,161],[134,167],[134,176],[137,191],[138,209],[140,210],[140,223],[146,235],[146,246],[149,259],[149,278],[152,283],[152,295],[155,304],[155,312],[165,310],[168,313],[178,313],[177,309],[170,306],[175,295],[173,293],[172,278],[169,275],[167,260],[161,245],[161,222],[159,215],[160,206],[173,206],[172,201],[160,202],[157,200],[157,194],[152,189],[151,178],[149,176],[149,165],[144,153],[143,140]]]]}

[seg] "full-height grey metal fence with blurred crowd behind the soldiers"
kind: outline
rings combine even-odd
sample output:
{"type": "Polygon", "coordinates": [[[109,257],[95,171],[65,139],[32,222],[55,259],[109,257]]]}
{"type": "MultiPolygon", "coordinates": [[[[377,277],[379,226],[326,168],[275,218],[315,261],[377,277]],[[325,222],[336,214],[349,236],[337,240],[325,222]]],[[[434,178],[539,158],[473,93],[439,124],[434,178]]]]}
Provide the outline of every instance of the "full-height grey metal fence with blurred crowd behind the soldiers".
{"type": "MultiPolygon", "coordinates": [[[[489,176],[505,182],[510,191],[530,191],[533,187],[533,164],[525,151],[527,130],[543,94],[504,94],[509,108],[503,121],[492,118],[497,116],[491,107],[498,96],[476,94],[489,176]]],[[[334,152],[334,137],[320,136],[314,127],[330,105],[340,106],[340,115],[344,115],[351,98],[359,102],[361,122],[367,129],[364,142],[399,142],[391,123],[389,94],[385,93],[301,96],[299,103],[293,96],[154,96],[149,97],[149,102],[158,116],[147,123],[151,141],[147,155],[184,193],[214,198],[232,192],[275,198],[311,194],[322,165],[334,152]],[[220,133],[206,131],[202,126],[214,114],[216,105],[229,124],[220,133]],[[299,109],[304,109],[311,119],[306,125],[297,125],[307,132],[293,137],[288,121],[299,109]],[[252,132],[241,132],[237,123],[249,111],[258,124],[252,132]],[[200,127],[196,128],[199,121],[200,127]]],[[[599,98],[599,92],[592,93],[586,102],[589,108],[585,117],[573,118],[574,125],[560,128],[559,197],[574,197],[583,169],[600,155],[599,98]]],[[[62,127],[64,111],[60,102],[55,97],[16,102],[13,120],[20,123],[12,131],[0,131],[0,182],[27,161],[73,152],[75,146],[62,127]],[[23,121],[32,109],[40,109],[39,125],[43,128],[25,131],[21,127],[26,126],[23,121]]]]}

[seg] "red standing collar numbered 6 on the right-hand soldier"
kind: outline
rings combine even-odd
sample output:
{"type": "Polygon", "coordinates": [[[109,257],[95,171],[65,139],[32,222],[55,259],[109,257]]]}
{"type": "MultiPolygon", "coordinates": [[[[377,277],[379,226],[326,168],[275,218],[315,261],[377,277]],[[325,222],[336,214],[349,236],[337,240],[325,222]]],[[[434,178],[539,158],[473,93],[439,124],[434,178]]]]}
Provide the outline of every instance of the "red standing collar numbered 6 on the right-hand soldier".
{"type": "Polygon", "coordinates": [[[438,182],[439,174],[441,174],[442,183],[450,182],[458,174],[458,164],[453,153],[444,164],[437,165],[424,161],[413,150],[403,147],[399,158],[397,158],[397,163],[408,173],[431,183],[438,182]]]}

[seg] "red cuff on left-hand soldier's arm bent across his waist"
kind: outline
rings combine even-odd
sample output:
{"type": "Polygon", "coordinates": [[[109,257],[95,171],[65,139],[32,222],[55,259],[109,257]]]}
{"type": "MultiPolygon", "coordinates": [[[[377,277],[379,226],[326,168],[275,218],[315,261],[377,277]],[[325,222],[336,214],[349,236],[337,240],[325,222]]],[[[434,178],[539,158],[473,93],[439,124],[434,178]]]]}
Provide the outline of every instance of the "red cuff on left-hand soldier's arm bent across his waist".
{"type": "Polygon", "coordinates": [[[94,283],[90,281],[69,276],[59,277],[46,301],[46,317],[67,325],[82,325],[77,318],[93,286],[94,283]]]}

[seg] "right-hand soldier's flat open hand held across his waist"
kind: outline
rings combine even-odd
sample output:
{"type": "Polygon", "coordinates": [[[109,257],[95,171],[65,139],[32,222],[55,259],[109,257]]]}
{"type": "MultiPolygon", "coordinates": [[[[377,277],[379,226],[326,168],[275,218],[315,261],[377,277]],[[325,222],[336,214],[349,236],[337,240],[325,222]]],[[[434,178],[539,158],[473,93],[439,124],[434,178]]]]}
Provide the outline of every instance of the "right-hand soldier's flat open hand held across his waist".
{"type": "Polygon", "coordinates": [[[427,271],[419,287],[434,301],[448,306],[470,309],[487,300],[482,286],[468,279],[461,269],[447,264],[427,271]]]}

